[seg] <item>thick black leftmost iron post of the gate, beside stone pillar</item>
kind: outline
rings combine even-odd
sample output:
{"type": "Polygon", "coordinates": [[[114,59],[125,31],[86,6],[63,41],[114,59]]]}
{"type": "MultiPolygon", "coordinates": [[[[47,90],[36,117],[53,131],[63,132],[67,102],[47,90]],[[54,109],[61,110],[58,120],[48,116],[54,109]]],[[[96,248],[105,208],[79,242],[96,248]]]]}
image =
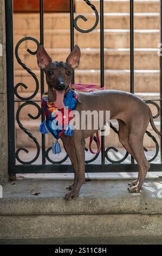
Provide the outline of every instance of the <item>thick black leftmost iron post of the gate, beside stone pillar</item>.
{"type": "Polygon", "coordinates": [[[8,97],[8,152],[9,173],[15,170],[15,106],[14,106],[14,42],[12,0],[5,1],[6,58],[7,58],[7,97],[8,97]]]}

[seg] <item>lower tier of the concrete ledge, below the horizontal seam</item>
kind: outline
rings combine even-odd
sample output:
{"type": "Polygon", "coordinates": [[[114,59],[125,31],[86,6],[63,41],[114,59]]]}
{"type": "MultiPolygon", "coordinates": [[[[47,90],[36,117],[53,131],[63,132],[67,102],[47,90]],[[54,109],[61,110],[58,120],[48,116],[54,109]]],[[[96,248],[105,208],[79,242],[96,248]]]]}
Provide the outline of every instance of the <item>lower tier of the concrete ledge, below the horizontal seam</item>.
{"type": "Polygon", "coordinates": [[[161,236],[161,215],[1,216],[0,238],[161,236]]]}

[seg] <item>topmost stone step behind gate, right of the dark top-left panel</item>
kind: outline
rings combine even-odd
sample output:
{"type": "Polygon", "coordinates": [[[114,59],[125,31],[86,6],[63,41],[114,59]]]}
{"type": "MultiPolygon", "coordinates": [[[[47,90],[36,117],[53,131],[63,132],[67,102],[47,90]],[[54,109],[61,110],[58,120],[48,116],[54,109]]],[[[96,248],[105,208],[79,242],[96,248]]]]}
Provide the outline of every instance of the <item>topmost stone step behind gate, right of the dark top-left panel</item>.
{"type": "MultiPolygon", "coordinates": [[[[93,0],[90,1],[96,9],[100,10],[100,1],[93,0]]],[[[106,0],[103,1],[104,11],[106,13],[128,13],[129,12],[129,0],[122,0],[122,1],[112,1],[106,0]]],[[[76,13],[90,13],[93,10],[82,0],[75,1],[75,11],[76,13]]],[[[134,1],[134,13],[159,13],[159,1],[134,1]]]]}

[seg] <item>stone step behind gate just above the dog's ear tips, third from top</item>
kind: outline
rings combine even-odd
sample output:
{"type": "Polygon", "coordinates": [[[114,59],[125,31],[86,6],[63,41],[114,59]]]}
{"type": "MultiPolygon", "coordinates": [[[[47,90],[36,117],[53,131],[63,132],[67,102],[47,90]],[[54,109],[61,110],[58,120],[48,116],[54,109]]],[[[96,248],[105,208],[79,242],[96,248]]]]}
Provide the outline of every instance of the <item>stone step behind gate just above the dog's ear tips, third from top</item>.
{"type": "MultiPolygon", "coordinates": [[[[16,29],[14,32],[14,45],[25,36],[33,36],[40,39],[38,30],[16,29]]],[[[105,48],[128,48],[130,46],[129,29],[105,29],[105,48]]],[[[87,34],[75,31],[75,44],[81,48],[100,48],[100,29],[87,34]]],[[[159,29],[135,29],[135,48],[155,48],[159,44],[159,29]]],[[[68,48],[70,47],[69,29],[46,29],[44,31],[44,46],[47,48],[68,48]]],[[[35,44],[28,40],[22,44],[22,48],[33,48],[35,44]]]]}

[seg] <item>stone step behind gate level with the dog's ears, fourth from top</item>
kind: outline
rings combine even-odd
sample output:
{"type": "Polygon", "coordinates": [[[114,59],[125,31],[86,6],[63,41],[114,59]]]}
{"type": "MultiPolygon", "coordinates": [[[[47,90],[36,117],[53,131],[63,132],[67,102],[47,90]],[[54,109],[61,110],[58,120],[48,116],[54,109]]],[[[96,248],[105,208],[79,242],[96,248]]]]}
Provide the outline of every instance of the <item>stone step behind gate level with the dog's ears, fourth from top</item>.
{"type": "MultiPolygon", "coordinates": [[[[32,50],[32,49],[31,49],[32,50]]],[[[34,49],[33,49],[34,51],[34,49]]],[[[47,52],[53,60],[65,61],[69,48],[47,48],[47,52]]],[[[37,69],[36,56],[21,49],[20,59],[30,69],[37,69]]],[[[130,50],[129,48],[111,49],[105,48],[105,69],[129,69],[130,50]]],[[[15,58],[15,69],[21,69],[15,58]]],[[[82,48],[79,69],[100,69],[100,49],[82,48]]],[[[158,48],[134,48],[134,69],[159,69],[158,48]]]]}

